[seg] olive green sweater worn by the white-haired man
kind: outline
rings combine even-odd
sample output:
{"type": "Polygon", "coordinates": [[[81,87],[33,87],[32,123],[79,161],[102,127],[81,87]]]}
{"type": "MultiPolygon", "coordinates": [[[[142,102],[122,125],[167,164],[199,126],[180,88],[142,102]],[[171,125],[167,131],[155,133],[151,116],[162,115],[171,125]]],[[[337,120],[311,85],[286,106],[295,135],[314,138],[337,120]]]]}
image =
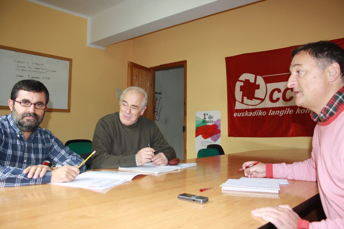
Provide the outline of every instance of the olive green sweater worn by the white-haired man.
{"type": "Polygon", "coordinates": [[[92,151],[93,169],[136,166],[135,154],[150,147],[155,154],[163,152],[168,160],[176,157],[174,149],[161,134],[158,126],[140,116],[136,123],[126,126],[119,112],[100,118],[94,130],[92,151]]]}

